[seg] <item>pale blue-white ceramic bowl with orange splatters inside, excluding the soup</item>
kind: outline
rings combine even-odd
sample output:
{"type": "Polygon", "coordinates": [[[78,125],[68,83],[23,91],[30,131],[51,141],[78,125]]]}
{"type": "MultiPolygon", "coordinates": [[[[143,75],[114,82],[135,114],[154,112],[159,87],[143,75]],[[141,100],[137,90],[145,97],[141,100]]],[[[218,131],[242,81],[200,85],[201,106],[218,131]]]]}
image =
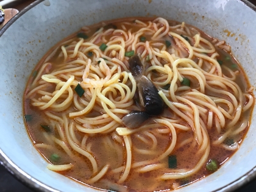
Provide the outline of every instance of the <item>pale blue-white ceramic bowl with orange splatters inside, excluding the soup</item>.
{"type": "MultiPolygon", "coordinates": [[[[38,0],[0,30],[0,160],[41,191],[95,191],[46,168],[23,123],[23,92],[37,62],[82,26],[127,16],[185,21],[226,40],[255,87],[255,7],[238,0],[38,0]],[[51,4],[51,5],[49,5],[51,4]],[[228,35],[228,32],[233,35],[228,35]]],[[[230,191],[256,174],[256,119],[241,148],[219,171],[177,191],[230,191]]]]}

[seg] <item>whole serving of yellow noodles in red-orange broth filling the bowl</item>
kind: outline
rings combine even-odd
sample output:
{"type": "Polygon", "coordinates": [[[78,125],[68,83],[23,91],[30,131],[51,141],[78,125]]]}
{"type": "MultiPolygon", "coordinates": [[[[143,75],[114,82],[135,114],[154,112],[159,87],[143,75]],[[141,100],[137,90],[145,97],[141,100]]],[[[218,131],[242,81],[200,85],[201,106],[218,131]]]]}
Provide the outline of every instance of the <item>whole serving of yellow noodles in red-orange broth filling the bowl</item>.
{"type": "Polygon", "coordinates": [[[163,18],[83,27],[32,71],[24,93],[29,135],[49,169],[91,187],[193,183],[218,171],[249,128],[254,88],[230,51],[163,18]]]}

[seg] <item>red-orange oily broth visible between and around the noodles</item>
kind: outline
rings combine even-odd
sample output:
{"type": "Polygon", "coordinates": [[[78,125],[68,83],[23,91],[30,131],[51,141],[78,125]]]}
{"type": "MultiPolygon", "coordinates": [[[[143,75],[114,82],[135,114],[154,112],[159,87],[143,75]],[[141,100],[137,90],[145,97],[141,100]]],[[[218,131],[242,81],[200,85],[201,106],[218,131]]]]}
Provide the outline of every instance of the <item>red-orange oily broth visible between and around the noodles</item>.
{"type": "MultiPolygon", "coordinates": [[[[126,19],[125,21],[133,23],[134,18],[129,18],[126,19]]],[[[143,19],[142,21],[146,21],[148,19],[143,19]]],[[[121,27],[121,21],[111,21],[108,22],[107,24],[97,24],[95,26],[90,27],[91,31],[87,32],[88,37],[90,38],[91,35],[94,34],[94,32],[101,27],[102,25],[105,25],[107,28],[115,27],[115,29],[122,29],[121,27]]],[[[169,21],[170,25],[177,24],[174,21],[169,21]]],[[[127,26],[126,26],[127,27],[127,26]]],[[[134,23],[130,29],[133,30],[138,30],[138,26],[136,23],[134,23]]],[[[129,30],[129,28],[127,28],[129,30]]],[[[200,31],[201,32],[201,31],[200,31]]],[[[76,37],[76,35],[79,32],[71,35],[70,37],[66,38],[62,42],[76,37]]],[[[209,37],[208,35],[204,34],[204,32],[201,32],[201,36],[207,39],[208,41],[212,41],[213,38],[209,37]]],[[[109,35],[109,37],[111,37],[109,35]]],[[[146,36],[147,39],[150,39],[149,36],[146,36]]],[[[107,39],[108,41],[108,39],[107,39]]],[[[160,41],[165,41],[165,37],[163,37],[160,41]]],[[[58,43],[54,48],[52,48],[46,56],[44,56],[44,59],[54,50],[62,44],[62,42],[58,43]]],[[[191,42],[193,44],[193,42],[191,42]]],[[[101,43],[98,43],[100,46],[101,43]]],[[[60,63],[63,61],[63,56],[58,58],[58,55],[60,54],[62,50],[59,48],[57,49],[57,52],[52,56],[52,58],[49,60],[49,62],[52,63],[52,68],[50,71],[53,69],[57,68],[60,63]]],[[[249,84],[249,81],[246,77],[246,74],[244,73],[243,69],[241,68],[241,65],[236,61],[236,59],[232,56],[230,52],[223,51],[222,49],[217,48],[217,51],[219,53],[218,60],[221,60],[222,66],[227,66],[228,68],[231,68],[233,71],[239,71],[237,74],[235,82],[240,86],[241,90],[243,92],[247,91],[251,85],[249,84]],[[225,58],[229,57],[229,60],[226,60],[225,58]]],[[[209,55],[210,56],[210,55],[209,55]]],[[[35,71],[38,71],[40,69],[40,66],[43,64],[44,59],[42,59],[38,65],[35,67],[34,71],[31,74],[31,77],[27,83],[27,88],[25,91],[25,96],[28,90],[30,89],[30,85],[32,80],[35,78],[34,74],[36,73],[35,71]]],[[[196,57],[194,57],[194,60],[197,60],[196,57]]],[[[226,70],[223,69],[223,73],[226,74],[226,70]]],[[[226,74],[228,76],[228,74],[226,74]]],[[[193,87],[196,87],[195,85],[191,85],[193,87]]],[[[54,86],[48,88],[49,92],[54,91],[54,86]]],[[[206,90],[207,92],[207,90],[206,90]]],[[[251,93],[252,94],[252,93],[251,93]]],[[[35,98],[38,98],[38,94],[34,94],[35,98]]],[[[24,97],[25,98],[25,97],[24,97]]],[[[70,108],[74,108],[74,105],[71,104],[70,108]]],[[[46,109],[49,110],[49,109],[46,109]]],[[[34,144],[38,143],[44,143],[44,144],[51,144],[52,149],[44,149],[44,148],[37,148],[37,150],[40,152],[41,155],[49,162],[54,165],[62,165],[62,164],[68,164],[72,163],[74,166],[72,169],[69,169],[67,171],[59,171],[60,174],[63,174],[64,176],[70,177],[71,179],[76,180],[77,182],[87,184],[87,180],[90,179],[91,177],[91,164],[88,161],[87,158],[79,154],[78,152],[72,150],[73,154],[76,156],[75,159],[70,158],[65,151],[63,151],[62,148],[60,148],[59,144],[56,144],[54,142],[49,143],[49,141],[44,137],[42,134],[47,133],[47,134],[52,134],[56,138],[60,139],[59,134],[57,133],[56,130],[53,130],[51,127],[51,132],[46,132],[46,130],[43,129],[40,125],[44,125],[45,121],[44,119],[48,118],[46,115],[44,115],[44,111],[46,110],[38,110],[37,107],[34,107],[30,104],[30,99],[24,99],[24,115],[31,115],[32,118],[30,121],[26,122],[26,127],[29,132],[30,138],[32,139],[34,144]],[[54,161],[50,157],[52,154],[58,154],[59,155],[59,160],[54,161]]],[[[76,109],[74,108],[76,111],[76,109]]],[[[170,110],[171,111],[171,110],[170,110]]],[[[244,135],[246,135],[246,132],[248,130],[250,120],[251,120],[251,110],[247,110],[246,113],[243,114],[242,118],[247,119],[248,126],[246,129],[243,130],[240,134],[236,135],[233,138],[227,138],[226,143],[230,144],[232,141],[237,141],[239,145],[243,141],[244,135]]],[[[58,115],[58,112],[52,112],[56,115],[58,115]]],[[[93,111],[90,112],[87,116],[93,116],[93,111]]],[[[229,119],[226,119],[229,121],[229,119]]],[[[240,119],[241,121],[241,119],[240,119]]],[[[184,123],[185,124],[185,123],[184,123]]],[[[213,123],[214,124],[214,123],[213,123]]],[[[159,125],[161,128],[162,125],[159,125]]],[[[225,130],[225,129],[224,129],[225,130]]],[[[154,130],[150,130],[152,133],[154,133],[154,130]]],[[[185,144],[182,147],[179,147],[179,144],[182,143],[186,138],[193,137],[193,132],[183,132],[181,130],[176,130],[177,132],[177,143],[176,147],[174,148],[174,151],[172,151],[171,155],[176,155],[177,157],[177,169],[191,169],[193,168],[196,163],[199,161],[199,158],[201,156],[196,155],[197,151],[199,149],[198,145],[193,145],[192,142],[185,144]]],[[[75,130],[76,133],[76,138],[77,140],[81,141],[82,137],[84,136],[83,134],[79,133],[79,131],[75,130]]],[[[140,132],[138,132],[140,133],[140,132]]],[[[217,138],[220,137],[221,133],[218,133],[216,129],[209,129],[208,134],[210,137],[210,141],[216,140],[217,138]]],[[[155,137],[157,138],[158,144],[157,147],[155,148],[156,154],[162,154],[168,144],[169,144],[169,138],[171,138],[171,133],[165,133],[165,134],[158,134],[155,133],[155,137]]],[[[113,142],[113,146],[109,146],[105,140],[106,138],[112,140],[112,136],[110,134],[108,135],[102,135],[101,133],[96,133],[93,135],[93,137],[89,137],[87,142],[91,143],[91,151],[94,154],[94,157],[96,157],[96,161],[98,163],[99,169],[101,169],[105,163],[109,163],[110,165],[110,170],[111,169],[116,169],[119,168],[120,166],[124,166],[126,163],[126,151],[125,147],[123,144],[122,148],[118,148],[118,143],[113,142]],[[118,148],[118,150],[116,149],[118,148]]],[[[140,148],[140,149],[149,149],[149,146],[140,140],[138,140],[137,137],[134,135],[131,135],[132,139],[132,148],[140,148]]],[[[146,138],[148,141],[151,141],[150,138],[146,138]]],[[[219,164],[222,165],[224,162],[229,160],[229,158],[234,154],[235,151],[229,151],[226,150],[220,146],[216,145],[211,145],[210,146],[210,155],[208,159],[210,158],[215,158],[218,160],[219,164]]],[[[132,162],[141,162],[143,160],[148,160],[148,158],[151,158],[151,155],[143,155],[138,153],[137,151],[133,150],[132,151],[132,162]]],[[[165,165],[163,168],[157,169],[155,171],[149,171],[149,172],[144,172],[144,173],[139,173],[136,172],[135,169],[131,169],[129,176],[127,179],[124,181],[124,183],[116,184],[118,183],[120,174],[111,174],[108,172],[103,179],[99,180],[96,183],[91,183],[89,184],[91,187],[99,188],[99,189],[104,189],[104,190],[112,190],[112,191],[123,191],[127,190],[129,192],[135,192],[135,191],[160,191],[160,190],[173,190],[174,188],[180,187],[180,186],[185,186],[188,185],[189,183],[193,183],[196,180],[202,179],[209,174],[205,169],[205,166],[203,166],[200,171],[196,172],[193,176],[183,178],[183,179],[175,179],[175,180],[157,180],[156,178],[161,175],[165,174],[168,172],[168,157],[163,158],[159,163],[163,163],[165,165]],[[109,182],[104,182],[105,180],[108,180],[109,182]],[[110,183],[110,184],[109,184],[110,183]],[[122,185],[125,188],[122,187],[116,187],[117,185],[122,185]]]]}

